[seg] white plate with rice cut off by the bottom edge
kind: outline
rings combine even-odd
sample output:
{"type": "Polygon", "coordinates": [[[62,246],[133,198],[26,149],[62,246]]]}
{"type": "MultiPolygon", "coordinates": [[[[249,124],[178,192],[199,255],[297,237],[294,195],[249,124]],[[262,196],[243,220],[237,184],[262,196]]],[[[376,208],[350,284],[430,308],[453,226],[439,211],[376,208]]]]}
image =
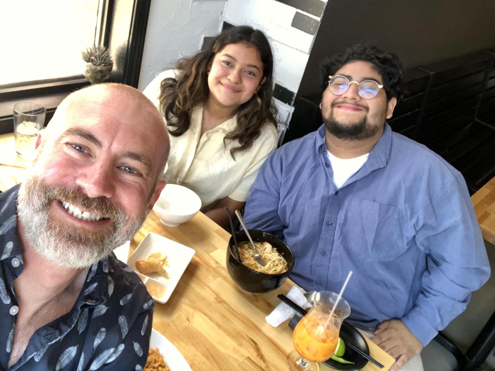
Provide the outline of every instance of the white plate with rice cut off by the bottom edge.
{"type": "MultiPolygon", "coordinates": [[[[168,367],[170,371],[191,371],[191,367],[177,348],[161,333],[155,329],[151,329],[149,349],[153,352],[155,348],[157,348],[163,356],[163,361],[165,361],[166,367],[168,367]]],[[[144,368],[144,371],[168,371],[168,369],[163,368],[163,366],[159,367],[158,362],[153,360],[152,357],[153,356],[150,357],[148,355],[147,366],[144,368]],[[154,364],[154,366],[152,366],[152,364],[154,364]]]]}

